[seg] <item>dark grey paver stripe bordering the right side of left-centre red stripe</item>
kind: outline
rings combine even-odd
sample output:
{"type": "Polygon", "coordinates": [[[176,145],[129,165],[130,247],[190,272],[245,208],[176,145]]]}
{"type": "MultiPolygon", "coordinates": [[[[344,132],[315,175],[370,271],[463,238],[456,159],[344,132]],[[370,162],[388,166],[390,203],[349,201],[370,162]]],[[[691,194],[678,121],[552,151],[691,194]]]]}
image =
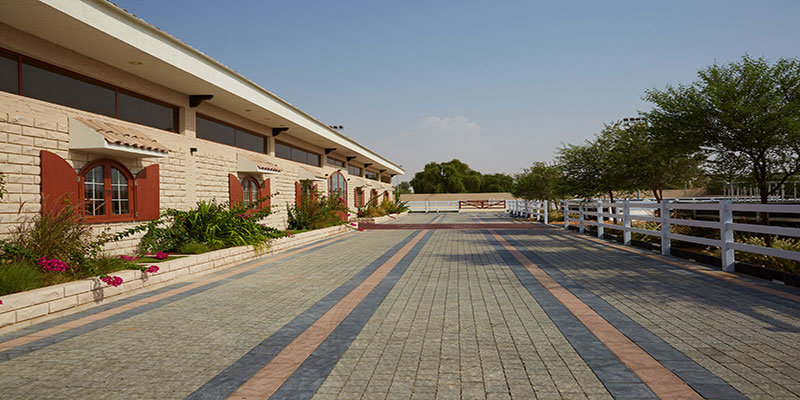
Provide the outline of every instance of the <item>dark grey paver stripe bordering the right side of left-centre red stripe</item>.
{"type": "Polygon", "coordinates": [[[383,300],[394,288],[408,267],[419,255],[425,243],[428,242],[433,232],[428,232],[406,254],[392,271],[378,284],[375,289],[350,312],[339,326],[331,333],[322,344],[317,347],[311,356],[289,377],[288,380],[271,397],[273,399],[310,399],[322,382],[330,374],[345,350],[358,336],[383,300]]]}

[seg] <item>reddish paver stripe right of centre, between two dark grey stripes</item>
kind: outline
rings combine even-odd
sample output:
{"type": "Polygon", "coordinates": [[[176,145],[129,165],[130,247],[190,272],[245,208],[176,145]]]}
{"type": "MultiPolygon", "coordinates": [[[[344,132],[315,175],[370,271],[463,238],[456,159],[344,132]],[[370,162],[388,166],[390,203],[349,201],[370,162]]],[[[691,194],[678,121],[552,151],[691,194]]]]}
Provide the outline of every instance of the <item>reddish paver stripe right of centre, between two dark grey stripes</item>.
{"type": "Polygon", "coordinates": [[[623,364],[639,376],[639,379],[656,396],[661,399],[702,399],[702,396],[695,392],[686,382],[628,339],[627,336],[578,299],[572,292],[561,286],[538,265],[517,250],[516,247],[508,243],[496,232],[491,232],[491,234],[553,297],[575,315],[623,364]]]}

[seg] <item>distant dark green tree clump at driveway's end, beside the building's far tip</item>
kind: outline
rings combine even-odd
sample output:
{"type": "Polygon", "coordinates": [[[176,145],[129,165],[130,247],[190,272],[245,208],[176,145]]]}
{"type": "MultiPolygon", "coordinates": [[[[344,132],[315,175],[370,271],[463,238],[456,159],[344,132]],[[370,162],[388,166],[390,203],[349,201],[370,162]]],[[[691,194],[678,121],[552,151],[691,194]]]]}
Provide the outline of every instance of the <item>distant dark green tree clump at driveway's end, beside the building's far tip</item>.
{"type": "Polygon", "coordinates": [[[482,175],[453,159],[426,164],[422,171],[414,174],[410,184],[414,193],[486,193],[510,191],[513,178],[504,174],[482,175]]]}

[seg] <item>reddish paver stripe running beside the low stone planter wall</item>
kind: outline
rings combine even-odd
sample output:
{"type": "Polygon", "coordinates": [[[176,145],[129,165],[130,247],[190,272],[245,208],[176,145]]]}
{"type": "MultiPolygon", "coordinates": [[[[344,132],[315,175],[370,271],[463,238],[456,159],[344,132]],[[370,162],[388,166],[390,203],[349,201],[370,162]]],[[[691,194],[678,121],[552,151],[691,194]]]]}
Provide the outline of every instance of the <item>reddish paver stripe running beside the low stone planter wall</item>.
{"type": "MultiPolygon", "coordinates": [[[[326,241],[323,241],[323,242],[316,243],[316,244],[314,244],[312,246],[301,247],[301,248],[298,248],[296,250],[292,250],[292,251],[289,251],[287,253],[282,253],[280,255],[271,257],[269,260],[265,260],[265,262],[278,261],[278,260],[281,260],[283,258],[295,255],[297,253],[300,253],[300,252],[303,252],[303,251],[306,251],[306,250],[309,250],[309,249],[313,249],[313,248],[316,248],[316,247],[319,247],[319,246],[322,246],[322,245],[326,245],[328,243],[336,242],[336,241],[339,241],[339,240],[342,240],[342,239],[344,239],[344,237],[336,237],[336,238],[333,238],[333,239],[329,239],[329,240],[326,240],[326,241]]],[[[134,308],[138,308],[138,307],[144,306],[146,304],[150,304],[150,303],[159,301],[161,299],[165,299],[167,297],[174,296],[176,294],[180,294],[180,293],[192,290],[192,289],[200,287],[200,286],[205,286],[205,285],[207,285],[209,283],[214,283],[216,281],[228,278],[230,276],[239,274],[239,273],[244,272],[244,271],[249,271],[249,270],[251,270],[253,268],[257,268],[259,266],[260,266],[260,264],[252,265],[252,266],[249,266],[249,267],[235,268],[235,269],[233,269],[233,270],[231,270],[229,272],[226,272],[224,274],[220,274],[220,275],[218,275],[216,277],[213,277],[211,279],[206,279],[206,280],[203,280],[203,281],[200,281],[200,282],[192,283],[190,285],[181,286],[180,288],[169,290],[169,291],[166,291],[166,292],[163,292],[163,293],[159,293],[157,295],[150,296],[150,297],[148,297],[146,299],[137,300],[137,301],[134,301],[134,302],[131,302],[131,303],[128,303],[128,304],[125,304],[125,305],[122,305],[122,306],[119,306],[119,307],[116,307],[116,308],[112,308],[110,310],[101,311],[99,313],[88,315],[86,317],[79,318],[79,319],[76,319],[74,321],[65,322],[63,324],[56,325],[56,326],[51,327],[51,328],[47,328],[47,329],[43,329],[41,331],[33,332],[33,333],[25,335],[25,336],[20,336],[18,338],[9,340],[7,342],[0,343],[0,352],[6,351],[6,350],[10,350],[10,349],[13,349],[15,347],[19,347],[19,346],[22,346],[22,345],[37,341],[37,340],[42,339],[42,338],[53,336],[53,335],[55,335],[57,333],[61,333],[61,332],[64,332],[64,331],[67,331],[67,330],[70,330],[70,329],[73,329],[73,328],[77,328],[77,327],[92,323],[94,321],[99,321],[101,319],[108,318],[108,317],[117,315],[119,313],[131,310],[131,309],[134,309],[134,308]]]]}

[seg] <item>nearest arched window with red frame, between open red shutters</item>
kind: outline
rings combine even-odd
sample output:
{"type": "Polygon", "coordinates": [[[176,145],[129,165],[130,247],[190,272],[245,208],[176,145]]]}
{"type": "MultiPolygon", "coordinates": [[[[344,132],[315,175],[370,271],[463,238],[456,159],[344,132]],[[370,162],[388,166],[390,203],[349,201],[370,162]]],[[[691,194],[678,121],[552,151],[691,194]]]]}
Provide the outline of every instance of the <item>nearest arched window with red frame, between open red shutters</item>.
{"type": "Polygon", "coordinates": [[[83,216],[89,221],[134,219],[133,176],[122,164],[111,160],[89,163],[80,173],[83,216]]]}

